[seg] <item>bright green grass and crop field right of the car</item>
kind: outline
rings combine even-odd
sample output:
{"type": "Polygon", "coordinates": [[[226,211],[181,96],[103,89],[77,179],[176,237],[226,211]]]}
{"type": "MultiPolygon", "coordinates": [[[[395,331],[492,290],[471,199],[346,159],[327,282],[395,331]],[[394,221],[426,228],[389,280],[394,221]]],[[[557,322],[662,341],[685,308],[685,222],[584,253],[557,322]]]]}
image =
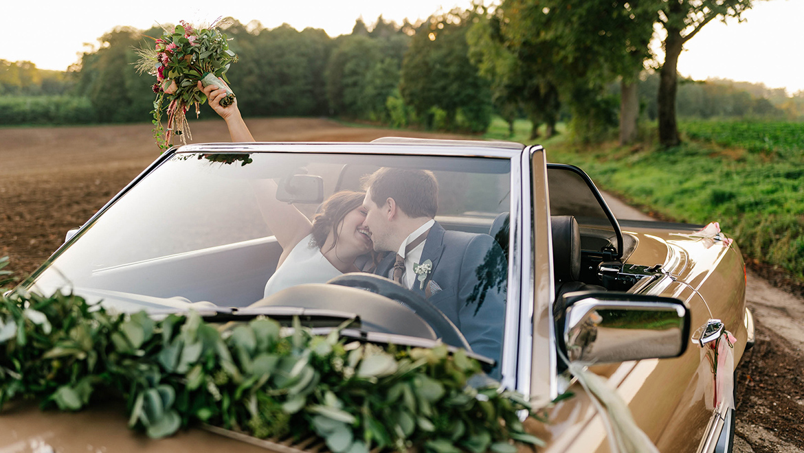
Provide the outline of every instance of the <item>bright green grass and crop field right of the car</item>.
{"type": "Polygon", "coordinates": [[[700,141],[671,149],[609,145],[584,149],[554,143],[548,154],[551,161],[580,165],[605,190],[667,218],[700,224],[719,221],[745,256],[802,280],[804,155],[801,141],[793,143],[794,131],[801,125],[777,124],[770,132],[773,124],[683,123],[683,128],[690,128],[690,137],[708,136],[745,148],[724,149],[700,141]],[[758,133],[747,138],[752,129],[758,133]],[[779,145],[769,152],[763,144],[770,142],[779,145]]]}

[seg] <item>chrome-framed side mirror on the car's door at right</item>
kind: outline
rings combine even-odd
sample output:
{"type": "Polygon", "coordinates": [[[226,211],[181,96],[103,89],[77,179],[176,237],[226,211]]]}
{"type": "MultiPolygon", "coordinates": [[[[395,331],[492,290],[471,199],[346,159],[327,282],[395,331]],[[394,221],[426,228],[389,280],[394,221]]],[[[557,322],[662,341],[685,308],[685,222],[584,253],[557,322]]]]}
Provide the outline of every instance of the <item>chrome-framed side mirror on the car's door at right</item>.
{"type": "Polygon", "coordinates": [[[557,341],[569,361],[669,358],[687,350],[691,315],[681,300],[626,292],[570,292],[559,306],[557,341]]]}

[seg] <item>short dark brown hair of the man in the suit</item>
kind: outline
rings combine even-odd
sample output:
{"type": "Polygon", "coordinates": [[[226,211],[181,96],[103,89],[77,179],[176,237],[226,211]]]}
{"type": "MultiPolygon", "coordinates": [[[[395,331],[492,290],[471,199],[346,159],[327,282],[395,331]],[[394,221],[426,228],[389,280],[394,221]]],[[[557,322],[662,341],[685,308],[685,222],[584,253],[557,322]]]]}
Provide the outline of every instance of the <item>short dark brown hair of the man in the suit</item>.
{"type": "Polygon", "coordinates": [[[371,189],[377,206],[393,198],[408,217],[433,218],[438,210],[438,182],[429,170],[383,167],[363,178],[363,189],[371,189]]]}

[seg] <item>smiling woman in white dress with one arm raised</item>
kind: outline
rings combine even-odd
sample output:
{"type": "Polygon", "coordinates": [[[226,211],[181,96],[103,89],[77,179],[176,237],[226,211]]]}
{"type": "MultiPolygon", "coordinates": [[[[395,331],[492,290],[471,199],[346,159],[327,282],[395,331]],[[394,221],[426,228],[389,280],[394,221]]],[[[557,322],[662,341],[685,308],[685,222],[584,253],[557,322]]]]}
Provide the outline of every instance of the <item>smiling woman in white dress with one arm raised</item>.
{"type": "MultiPolygon", "coordinates": [[[[237,100],[222,107],[219,101],[226,96],[224,89],[213,85],[203,88],[201,82],[199,89],[207,95],[211,108],[226,120],[232,141],[254,141],[240,116],[237,100]]],[[[297,284],[326,283],[343,273],[361,271],[355,259],[371,257],[373,250],[371,237],[363,228],[365,194],[350,190],[332,194],[310,222],[295,206],[277,200],[276,182],[259,180],[254,184],[263,218],[282,247],[277,270],[265,284],[265,297],[297,284]]]]}

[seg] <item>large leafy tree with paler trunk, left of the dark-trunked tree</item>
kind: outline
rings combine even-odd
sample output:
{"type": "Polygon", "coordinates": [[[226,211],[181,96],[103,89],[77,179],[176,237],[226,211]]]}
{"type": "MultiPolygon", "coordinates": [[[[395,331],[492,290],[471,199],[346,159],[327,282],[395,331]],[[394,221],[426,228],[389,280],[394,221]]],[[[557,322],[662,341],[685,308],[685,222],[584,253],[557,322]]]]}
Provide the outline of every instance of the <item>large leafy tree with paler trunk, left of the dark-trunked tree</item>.
{"type": "MultiPolygon", "coordinates": [[[[653,34],[652,0],[589,2],[586,0],[504,0],[498,10],[506,46],[527,68],[549,82],[572,111],[574,133],[593,140],[597,131],[616,123],[607,85],[619,78],[621,131],[633,139],[638,117],[636,81],[653,34]]],[[[552,90],[544,90],[552,94],[552,90]]]]}

